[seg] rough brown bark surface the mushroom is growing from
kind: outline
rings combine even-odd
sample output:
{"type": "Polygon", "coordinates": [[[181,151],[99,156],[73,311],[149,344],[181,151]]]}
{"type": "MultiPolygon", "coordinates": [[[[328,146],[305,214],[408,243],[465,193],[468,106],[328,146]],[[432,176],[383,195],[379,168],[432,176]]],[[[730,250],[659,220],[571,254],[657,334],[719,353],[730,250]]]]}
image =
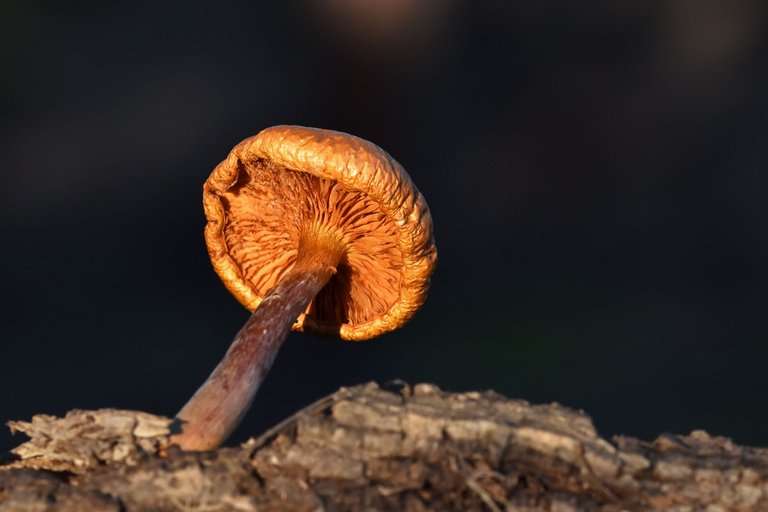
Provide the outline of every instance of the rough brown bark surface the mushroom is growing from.
{"type": "Polygon", "coordinates": [[[37,416],[0,511],[768,510],[768,449],[697,431],[600,438],[585,414],[429,384],[337,393],[258,439],[165,449],[166,418],[37,416]]]}

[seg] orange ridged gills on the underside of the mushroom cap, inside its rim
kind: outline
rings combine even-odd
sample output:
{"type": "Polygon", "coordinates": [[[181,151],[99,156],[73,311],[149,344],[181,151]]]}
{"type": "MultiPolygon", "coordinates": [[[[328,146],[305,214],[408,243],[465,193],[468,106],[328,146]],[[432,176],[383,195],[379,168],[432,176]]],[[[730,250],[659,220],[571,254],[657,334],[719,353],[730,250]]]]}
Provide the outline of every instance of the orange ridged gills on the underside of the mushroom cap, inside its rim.
{"type": "Polygon", "coordinates": [[[326,326],[356,325],[397,302],[397,228],[368,195],[264,159],[241,162],[236,182],[219,195],[227,252],[259,296],[291,270],[302,238],[312,233],[335,240],[342,258],[308,316],[326,326]]]}

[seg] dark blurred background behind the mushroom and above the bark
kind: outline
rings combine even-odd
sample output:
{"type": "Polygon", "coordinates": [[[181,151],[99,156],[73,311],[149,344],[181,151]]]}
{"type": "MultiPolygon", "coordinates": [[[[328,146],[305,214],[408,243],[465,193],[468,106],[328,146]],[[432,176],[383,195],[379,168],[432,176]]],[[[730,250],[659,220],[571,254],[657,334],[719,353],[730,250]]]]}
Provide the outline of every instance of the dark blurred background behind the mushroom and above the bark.
{"type": "Polygon", "coordinates": [[[398,159],[440,261],[398,332],[290,335],[232,442],[400,378],[768,445],[768,3],[1,5],[0,420],[178,410],[248,316],[202,183],[289,123],[398,159]]]}

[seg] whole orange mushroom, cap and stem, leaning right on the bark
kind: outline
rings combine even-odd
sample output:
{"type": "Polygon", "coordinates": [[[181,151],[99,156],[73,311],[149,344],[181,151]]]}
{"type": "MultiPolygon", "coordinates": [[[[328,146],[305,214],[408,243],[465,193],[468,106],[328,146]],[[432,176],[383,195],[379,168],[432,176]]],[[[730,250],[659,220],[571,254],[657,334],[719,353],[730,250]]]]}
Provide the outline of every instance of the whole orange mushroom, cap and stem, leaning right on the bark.
{"type": "Polygon", "coordinates": [[[235,146],[205,182],[205,241],[253,313],[177,414],[171,442],[221,445],[293,328],[366,340],[407,322],[437,252],[424,197],[389,154],[346,133],[275,126],[235,146]]]}

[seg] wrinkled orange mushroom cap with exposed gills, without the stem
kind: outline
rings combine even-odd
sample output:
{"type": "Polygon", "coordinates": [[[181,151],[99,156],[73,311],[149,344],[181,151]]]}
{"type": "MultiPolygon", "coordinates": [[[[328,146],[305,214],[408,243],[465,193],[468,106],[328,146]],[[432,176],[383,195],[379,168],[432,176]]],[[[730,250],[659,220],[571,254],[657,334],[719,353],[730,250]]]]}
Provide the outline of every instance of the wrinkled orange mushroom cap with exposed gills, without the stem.
{"type": "Polygon", "coordinates": [[[365,340],[403,325],[426,298],[437,262],[429,207],[402,166],[371,142],[267,128],[213,170],[203,206],[213,267],[251,311],[293,267],[303,233],[339,241],[337,273],[294,330],[365,340]]]}

